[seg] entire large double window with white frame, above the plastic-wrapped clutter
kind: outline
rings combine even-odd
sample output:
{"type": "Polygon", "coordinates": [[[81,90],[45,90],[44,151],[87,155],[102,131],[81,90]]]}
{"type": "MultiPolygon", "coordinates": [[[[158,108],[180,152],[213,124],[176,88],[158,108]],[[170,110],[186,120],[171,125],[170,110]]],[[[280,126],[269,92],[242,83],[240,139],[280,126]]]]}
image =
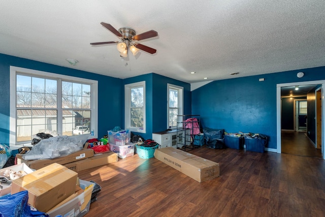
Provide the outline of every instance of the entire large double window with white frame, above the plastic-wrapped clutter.
{"type": "Polygon", "coordinates": [[[18,67],[10,67],[10,81],[10,144],[29,143],[38,133],[71,136],[96,128],[97,81],[18,67]]]}

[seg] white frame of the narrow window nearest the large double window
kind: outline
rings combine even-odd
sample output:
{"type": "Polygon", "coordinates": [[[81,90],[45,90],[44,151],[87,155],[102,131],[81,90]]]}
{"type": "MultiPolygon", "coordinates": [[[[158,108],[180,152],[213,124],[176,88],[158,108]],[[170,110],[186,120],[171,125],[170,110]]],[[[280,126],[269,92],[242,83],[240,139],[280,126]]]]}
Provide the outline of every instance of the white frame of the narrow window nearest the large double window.
{"type": "Polygon", "coordinates": [[[126,130],[146,133],[146,82],[140,81],[124,85],[124,126],[126,130]],[[143,128],[131,127],[131,89],[143,87],[143,128]]]}

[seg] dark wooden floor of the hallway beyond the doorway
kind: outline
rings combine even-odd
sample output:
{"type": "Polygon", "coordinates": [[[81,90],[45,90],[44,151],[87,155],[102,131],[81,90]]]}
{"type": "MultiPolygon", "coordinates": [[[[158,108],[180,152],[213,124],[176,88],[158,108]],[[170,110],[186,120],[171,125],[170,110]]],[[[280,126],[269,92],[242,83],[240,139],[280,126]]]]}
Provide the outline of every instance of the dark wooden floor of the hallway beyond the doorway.
{"type": "Polygon", "coordinates": [[[322,158],[321,149],[315,148],[305,132],[281,132],[281,152],[297,156],[322,158]]]}

